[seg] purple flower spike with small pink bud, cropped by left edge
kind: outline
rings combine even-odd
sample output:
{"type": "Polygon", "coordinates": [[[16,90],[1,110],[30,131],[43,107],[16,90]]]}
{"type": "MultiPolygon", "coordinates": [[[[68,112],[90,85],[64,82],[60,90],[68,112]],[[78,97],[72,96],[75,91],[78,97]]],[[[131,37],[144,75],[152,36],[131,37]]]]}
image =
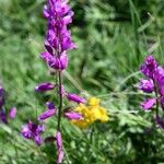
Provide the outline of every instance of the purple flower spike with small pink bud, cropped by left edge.
{"type": "MultiPolygon", "coordinates": [[[[5,105],[5,91],[2,86],[0,86],[0,122],[8,124],[8,115],[4,108],[5,105]]],[[[16,116],[16,108],[12,107],[10,109],[10,118],[14,119],[16,116]]]]}

